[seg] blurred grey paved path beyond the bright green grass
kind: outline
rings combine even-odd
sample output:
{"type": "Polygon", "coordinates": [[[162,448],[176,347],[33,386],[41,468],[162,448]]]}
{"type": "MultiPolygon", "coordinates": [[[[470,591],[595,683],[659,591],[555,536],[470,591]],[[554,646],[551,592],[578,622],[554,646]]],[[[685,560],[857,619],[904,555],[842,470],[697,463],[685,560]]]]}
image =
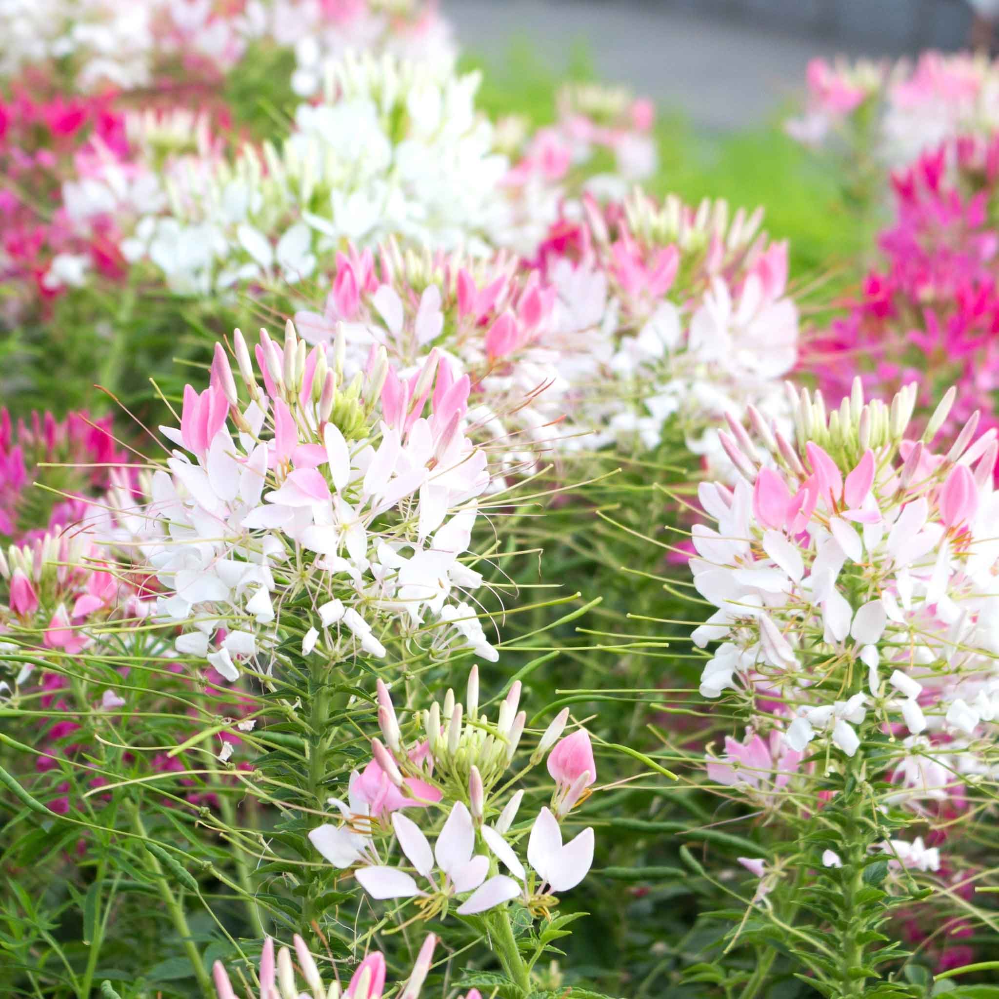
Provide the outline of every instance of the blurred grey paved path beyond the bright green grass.
{"type": "MultiPolygon", "coordinates": [[[[699,2],[706,5],[708,0],[699,2]]],[[[762,0],[742,2],[759,7],[762,0]]],[[[857,21],[850,14],[850,2],[843,0],[836,8],[840,19],[847,21],[841,28],[863,23],[862,15],[857,21]]],[[[794,3],[804,5],[808,0],[794,3]]],[[[862,3],[886,3],[883,10],[897,12],[903,0],[862,3]]],[[[774,4],[779,6],[778,0],[771,0],[771,9],[774,4]]],[[[730,20],[678,8],[666,0],[443,0],[442,7],[462,45],[490,60],[501,60],[512,43],[526,40],[557,69],[564,66],[573,42],[582,40],[601,77],[627,83],[663,108],[680,110],[696,126],[712,131],[730,131],[765,119],[800,92],[805,66],[814,55],[832,56],[844,49],[850,55],[897,55],[911,45],[915,26],[922,24],[927,30],[925,20],[882,19],[880,30],[867,35],[874,42],[844,45],[816,40],[815,25],[802,24],[800,18],[797,25],[783,22],[790,25],[787,30],[765,12],[730,20]],[[808,28],[811,37],[805,33],[808,28]]],[[[933,37],[945,40],[961,30],[960,7],[925,9],[938,19],[941,11],[949,17],[938,28],[929,25],[933,37]]],[[[848,38],[849,31],[841,35],[848,38]]]]}

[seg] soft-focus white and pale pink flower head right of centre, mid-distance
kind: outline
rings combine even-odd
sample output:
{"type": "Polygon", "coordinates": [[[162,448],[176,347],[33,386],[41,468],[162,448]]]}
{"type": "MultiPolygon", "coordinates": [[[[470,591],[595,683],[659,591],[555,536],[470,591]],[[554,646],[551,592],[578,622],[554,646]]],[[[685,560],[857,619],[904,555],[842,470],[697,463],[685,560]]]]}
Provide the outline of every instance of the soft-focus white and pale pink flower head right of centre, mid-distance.
{"type": "Polygon", "coordinates": [[[795,364],[798,332],[786,245],[760,232],[760,212],[730,217],[724,202],[694,210],[636,191],[583,204],[583,220],[553,226],[537,258],[557,295],[550,339],[592,342],[569,369],[576,425],[596,443],[653,448],[675,421],[716,464],[726,410],[784,411],[777,379],[795,364]]]}

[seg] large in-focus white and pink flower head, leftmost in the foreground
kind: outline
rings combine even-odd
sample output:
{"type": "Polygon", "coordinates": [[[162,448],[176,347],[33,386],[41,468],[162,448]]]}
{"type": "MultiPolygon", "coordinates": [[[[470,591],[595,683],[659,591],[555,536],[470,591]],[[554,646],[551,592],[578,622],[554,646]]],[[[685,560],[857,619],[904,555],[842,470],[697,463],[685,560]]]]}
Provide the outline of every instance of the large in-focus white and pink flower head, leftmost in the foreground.
{"type": "Polygon", "coordinates": [[[467,436],[468,383],[436,354],[390,383],[385,351],[373,350],[348,384],[343,337],[330,366],[289,323],[283,347],[261,332],[262,388],[239,331],[234,346],[249,405],[218,345],[212,385],[188,386],[180,428],[162,428],[178,450],[141,514],[160,611],[186,627],[178,651],[227,679],[240,662],[270,672],[285,606],[304,591],[292,617],[312,621],[304,656],[384,656],[393,625],[416,638],[442,622],[434,648],[457,638],[495,658],[476,609],[455,602],[483,582],[463,557],[491,484],[467,436]]]}

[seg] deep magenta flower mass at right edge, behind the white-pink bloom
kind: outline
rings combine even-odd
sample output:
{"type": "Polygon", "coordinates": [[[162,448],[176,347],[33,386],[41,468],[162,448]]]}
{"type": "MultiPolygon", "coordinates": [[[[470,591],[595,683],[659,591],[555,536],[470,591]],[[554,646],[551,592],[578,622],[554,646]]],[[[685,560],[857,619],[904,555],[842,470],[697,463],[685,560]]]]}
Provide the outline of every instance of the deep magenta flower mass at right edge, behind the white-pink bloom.
{"type": "Polygon", "coordinates": [[[896,217],[880,235],[882,260],[802,360],[827,398],[848,393],[855,374],[877,394],[916,381],[917,412],[925,418],[954,386],[946,429],[976,410],[981,429],[994,426],[999,230],[990,202],[997,166],[995,140],[965,137],[892,176],[896,217]]]}

